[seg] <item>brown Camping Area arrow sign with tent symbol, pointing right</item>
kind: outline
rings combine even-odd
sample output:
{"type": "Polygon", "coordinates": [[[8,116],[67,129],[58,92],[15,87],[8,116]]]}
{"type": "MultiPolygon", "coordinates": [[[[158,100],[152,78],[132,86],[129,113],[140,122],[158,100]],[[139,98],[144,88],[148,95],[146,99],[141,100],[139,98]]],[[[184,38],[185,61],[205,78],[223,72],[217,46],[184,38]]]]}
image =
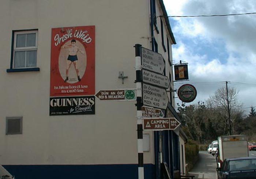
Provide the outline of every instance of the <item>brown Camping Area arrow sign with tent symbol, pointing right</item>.
{"type": "Polygon", "coordinates": [[[144,119],[144,130],[162,131],[175,130],[181,123],[176,118],[144,119]]]}

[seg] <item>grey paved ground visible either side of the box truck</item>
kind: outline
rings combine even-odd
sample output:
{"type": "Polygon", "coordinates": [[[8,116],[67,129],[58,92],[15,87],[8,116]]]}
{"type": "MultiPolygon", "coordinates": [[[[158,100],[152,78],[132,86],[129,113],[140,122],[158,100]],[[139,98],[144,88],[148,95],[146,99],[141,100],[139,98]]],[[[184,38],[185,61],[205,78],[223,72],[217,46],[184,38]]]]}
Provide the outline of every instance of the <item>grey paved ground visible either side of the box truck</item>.
{"type": "MultiPolygon", "coordinates": [[[[256,151],[249,151],[250,157],[256,157],[256,151]]],[[[216,159],[206,151],[199,151],[199,159],[189,175],[194,175],[194,179],[217,179],[216,159]]]]}

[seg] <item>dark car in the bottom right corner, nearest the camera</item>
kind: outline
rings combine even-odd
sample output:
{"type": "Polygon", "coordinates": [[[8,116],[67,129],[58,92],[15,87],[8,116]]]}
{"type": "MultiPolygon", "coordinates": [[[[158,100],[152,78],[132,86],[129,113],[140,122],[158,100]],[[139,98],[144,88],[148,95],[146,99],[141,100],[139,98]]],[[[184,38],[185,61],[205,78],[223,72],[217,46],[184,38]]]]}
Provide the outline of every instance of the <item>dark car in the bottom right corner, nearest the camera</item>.
{"type": "Polygon", "coordinates": [[[217,172],[218,179],[256,179],[256,157],[225,159],[217,172]]]}

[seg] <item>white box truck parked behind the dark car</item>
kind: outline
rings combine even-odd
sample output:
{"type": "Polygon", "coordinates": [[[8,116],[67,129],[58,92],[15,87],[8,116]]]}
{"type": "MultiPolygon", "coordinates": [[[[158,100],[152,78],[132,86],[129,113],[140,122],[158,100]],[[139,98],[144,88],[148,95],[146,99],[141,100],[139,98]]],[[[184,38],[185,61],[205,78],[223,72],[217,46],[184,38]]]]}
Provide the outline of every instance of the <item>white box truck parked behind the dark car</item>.
{"type": "Polygon", "coordinates": [[[248,157],[248,141],[246,135],[232,135],[218,137],[218,167],[225,159],[248,157]]]}

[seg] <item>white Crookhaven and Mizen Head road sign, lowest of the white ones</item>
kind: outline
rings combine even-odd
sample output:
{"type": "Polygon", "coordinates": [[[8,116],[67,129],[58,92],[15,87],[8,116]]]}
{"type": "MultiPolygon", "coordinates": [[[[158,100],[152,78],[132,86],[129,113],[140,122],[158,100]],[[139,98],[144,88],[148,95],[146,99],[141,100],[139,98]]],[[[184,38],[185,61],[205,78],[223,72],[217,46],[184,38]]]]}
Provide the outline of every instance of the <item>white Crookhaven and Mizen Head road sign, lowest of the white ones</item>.
{"type": "Polygon", "coordinates": [[[166,109],[169,102],[166,90],[143,83],[143,104],[154,108],[166,109]]]}

